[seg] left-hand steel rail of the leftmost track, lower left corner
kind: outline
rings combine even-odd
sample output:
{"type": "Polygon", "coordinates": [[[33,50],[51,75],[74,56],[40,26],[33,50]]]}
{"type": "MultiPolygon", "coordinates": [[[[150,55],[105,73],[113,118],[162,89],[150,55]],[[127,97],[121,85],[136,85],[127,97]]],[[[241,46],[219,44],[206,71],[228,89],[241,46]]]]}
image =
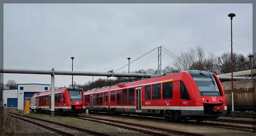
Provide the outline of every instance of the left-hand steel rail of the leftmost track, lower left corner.
{"type": "Polygon", "coordinates": [[[28,123],[31,123],[31,124],[34,124],[34,125],[37,125],[37,126],[40,126],[40,127],[43,127],[43,128],[46,128],[47,130],[55,131],[55,132],[57,132],[59,134],[62,134],[62,135],[73,135],[71,133],[64,132],[64,131],[58,130],[56,128],[52,128],[52,127],[49,127],[49,126],[37,123],[36,121],[31,121],[31,120],[28,120],[28,119],[25,119],[25,118],[21,118],[21,117],[18,117],[18,116],[14,116],[14,115],[11,115],[11,117],[19,119],[19,120],[23,120],[25,122],[28,122],[28,123]]]}

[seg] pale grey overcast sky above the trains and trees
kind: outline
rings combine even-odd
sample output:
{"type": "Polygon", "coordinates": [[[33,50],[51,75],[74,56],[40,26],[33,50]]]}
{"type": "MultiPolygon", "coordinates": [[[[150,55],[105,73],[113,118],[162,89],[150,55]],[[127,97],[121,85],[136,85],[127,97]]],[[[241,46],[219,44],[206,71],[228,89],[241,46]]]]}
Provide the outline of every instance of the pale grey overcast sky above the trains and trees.
{"type": "MultiPolygon", "coordinates": [[[[109,71],[157,46],[179,55],[201,46],[215,55],[252,53],[252,4],[4,4],[4,68],[109,71]]],[[[173,59],[163,52],[162,67],[173,59]]],[[[157,50],[130,70],[157,68],[157,50]]],[[[125,67],[118,72],[127,71],[125,67]]],[[[95,77],[95,79],[98,77],[95,77]]],[[[4,74],[4,82],[50,84],[50,75],[4,74]]],[[[79,84],[92,80],[74,76],[79,84]]],[[[71,76],[56,76],[57,87],[71,76]]]]}

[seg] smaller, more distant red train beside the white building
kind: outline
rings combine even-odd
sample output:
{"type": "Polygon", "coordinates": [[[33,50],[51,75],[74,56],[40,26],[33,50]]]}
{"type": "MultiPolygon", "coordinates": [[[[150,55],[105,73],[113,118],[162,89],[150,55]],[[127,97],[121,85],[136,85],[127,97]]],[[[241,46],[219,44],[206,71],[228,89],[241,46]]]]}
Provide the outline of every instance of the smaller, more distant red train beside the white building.
{"type": "MultiPolygon", "coordinates": [[[[30,109],[36,111],[51,110],[51,91],[39,92],[30,97],[30,109]]],[[[82,88],[62,88],[55,90],[55,111],[78,114],[85,110],[85,98],[82,88]]]]}

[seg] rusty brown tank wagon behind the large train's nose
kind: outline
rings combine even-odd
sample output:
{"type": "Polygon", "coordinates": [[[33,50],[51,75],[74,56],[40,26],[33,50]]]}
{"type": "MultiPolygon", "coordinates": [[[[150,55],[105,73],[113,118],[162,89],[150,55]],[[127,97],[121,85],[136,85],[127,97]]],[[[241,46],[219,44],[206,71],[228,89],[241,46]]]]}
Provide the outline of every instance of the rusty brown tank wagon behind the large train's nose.
{"type": "MultiPolygon", "coordinates": [[[[231,111],[231,82],[223,82],[223,89],[227,99],[228,111],[231,111]]],[[[233,82],[234,109],[235,110],[255,110],[256,109],[256,80],[241,80],[233,82]]]]}

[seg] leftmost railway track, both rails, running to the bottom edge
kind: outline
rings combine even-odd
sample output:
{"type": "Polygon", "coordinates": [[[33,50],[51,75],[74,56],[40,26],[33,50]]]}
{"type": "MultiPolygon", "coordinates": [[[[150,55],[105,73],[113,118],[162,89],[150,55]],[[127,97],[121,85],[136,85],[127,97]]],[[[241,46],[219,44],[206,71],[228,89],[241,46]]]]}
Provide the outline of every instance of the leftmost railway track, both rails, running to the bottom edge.
{"type": "Polygon", "coordinates": [[[45,120],[41,118],[35,118],[30,116],[23,117],[20,114],[17,113],[11,113],[11,117],[21,119],[23,121],[26,121],[28,123],[32,123],[41,127],[44,127],[48,130],[52,130],[56,133],[62,134],[62,135],[86,135],[86,134],[92,134],[92,135],[106,135],[109,136],[109,134],[88,130],[81,127],[71,126],[68,124],[63,123],[57,123],[55,121],[45,120]]]}

